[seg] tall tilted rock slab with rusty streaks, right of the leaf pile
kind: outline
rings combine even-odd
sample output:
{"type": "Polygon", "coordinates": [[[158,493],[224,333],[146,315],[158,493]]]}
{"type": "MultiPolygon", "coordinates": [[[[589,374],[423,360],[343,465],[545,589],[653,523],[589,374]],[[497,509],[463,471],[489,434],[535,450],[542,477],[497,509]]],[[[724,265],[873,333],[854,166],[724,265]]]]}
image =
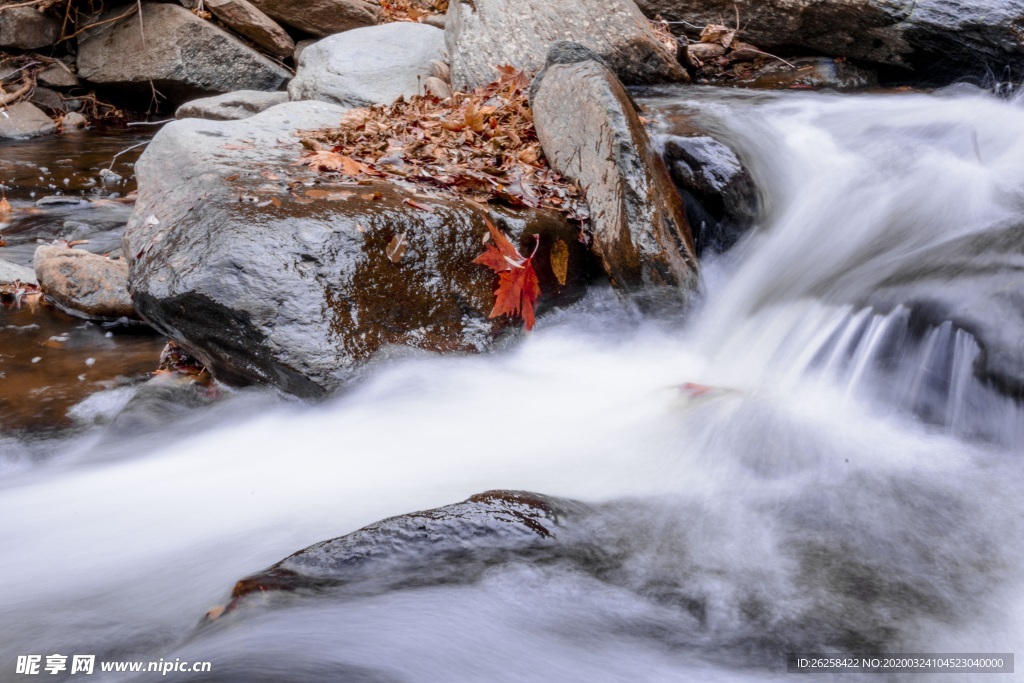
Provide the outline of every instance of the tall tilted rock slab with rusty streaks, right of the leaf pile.
{"type": "Polygon", "coordinates": [[[696,288],[682,201],[630,96],[600,57],[556,43],[530,87],[530,106],[545,157],[583,187],[593,250],[612,284],[696,288]]]}

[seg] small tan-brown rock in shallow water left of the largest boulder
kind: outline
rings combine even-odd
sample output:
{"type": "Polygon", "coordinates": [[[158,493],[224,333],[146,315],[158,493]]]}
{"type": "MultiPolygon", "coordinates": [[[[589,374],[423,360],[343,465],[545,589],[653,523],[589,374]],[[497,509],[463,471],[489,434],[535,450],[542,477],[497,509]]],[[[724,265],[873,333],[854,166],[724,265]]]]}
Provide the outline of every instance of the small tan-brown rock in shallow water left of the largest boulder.
{"type": "Polygon", "coordinates": [[[60,308],[94,319],[137,318],[128,296],[128,264],[61,245],[36,250],[36,278],[60,308]]]}

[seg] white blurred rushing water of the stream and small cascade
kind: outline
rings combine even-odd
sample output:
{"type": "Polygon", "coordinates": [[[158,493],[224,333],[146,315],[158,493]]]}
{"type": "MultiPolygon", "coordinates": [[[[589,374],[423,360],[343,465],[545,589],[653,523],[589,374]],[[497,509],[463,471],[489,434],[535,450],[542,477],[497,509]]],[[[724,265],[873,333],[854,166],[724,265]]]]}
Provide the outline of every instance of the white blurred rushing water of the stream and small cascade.
{"type": "Polygon", "coordinates": [[[842,297],[1020,215],[1024,106],[679,102],[742,153],[765,203],[708,266],[693,319],[595,292],[511,349],[382,364],[323,405],[241,396],[212,427],[55,445],[0,485],[0,680],[54,652],[212,663],[187,680],[431,682],[775,680],[786,651],[1024,652],[1021,411],[973,379],[966,333],[894,346],[904,310],[842,297]],[[685,382],[717,388],[691,399],[685,382]],[[997,437],[973,437],[982,419],[997,437]],[[488,488],[598,505],[621,570],[512,562],[194,632],[296,550],[488,488]]]}

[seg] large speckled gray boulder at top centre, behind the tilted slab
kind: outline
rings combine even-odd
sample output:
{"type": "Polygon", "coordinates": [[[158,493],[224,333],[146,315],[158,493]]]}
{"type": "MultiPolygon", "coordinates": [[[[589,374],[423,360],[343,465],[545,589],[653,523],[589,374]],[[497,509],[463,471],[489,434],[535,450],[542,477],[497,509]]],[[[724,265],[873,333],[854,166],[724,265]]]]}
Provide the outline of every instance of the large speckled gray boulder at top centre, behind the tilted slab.
{"type": "Polygon", "coordinates": [[[591,48],[628,85],[687,80],[633,0],[453,0],[445,34],[460,90],[494,81],[499,66],[535,73],[560,40],[591,48]]]}

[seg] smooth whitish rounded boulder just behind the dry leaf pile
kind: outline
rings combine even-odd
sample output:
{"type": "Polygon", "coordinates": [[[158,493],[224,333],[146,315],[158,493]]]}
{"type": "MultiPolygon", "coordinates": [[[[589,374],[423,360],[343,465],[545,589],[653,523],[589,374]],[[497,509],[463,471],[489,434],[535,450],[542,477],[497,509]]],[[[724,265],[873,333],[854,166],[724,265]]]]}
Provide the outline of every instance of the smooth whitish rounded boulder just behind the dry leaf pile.
{"type": "Polygon", "coordinates": [[[288,84],[292,99],[347,106],[390,104],[423,94],[431,62],[444,58],[444,32],[395,23],[354,29],[306,47],[288,84]]]}

